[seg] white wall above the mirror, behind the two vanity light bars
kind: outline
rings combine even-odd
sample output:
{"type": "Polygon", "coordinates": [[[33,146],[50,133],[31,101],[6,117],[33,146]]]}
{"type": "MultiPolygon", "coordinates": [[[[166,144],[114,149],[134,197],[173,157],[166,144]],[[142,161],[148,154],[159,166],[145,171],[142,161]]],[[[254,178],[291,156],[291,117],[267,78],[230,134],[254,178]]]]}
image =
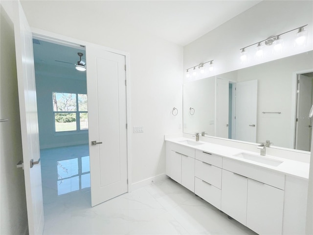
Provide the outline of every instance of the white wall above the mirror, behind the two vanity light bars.
{"type": "MultiPolygon", "coordinates": [[[[313,1],[262,1],[185,46],[184,69],[214,60],[214,72],[210,74],[212,76],[312,50],[312,9],[313,1]],[[305,24],[309,24],[305,27],[308,31],[306,47],[294,47],[294,31],[282,36],[285,44],[281,54],[273,55],[267,51],[263,59],[255,60],[251,58],[252,55],[246,64],[241,64],[240,48],[305,24]]],[[[255,47],[247,48],[251,54],[254,50],[255,47]]]]}

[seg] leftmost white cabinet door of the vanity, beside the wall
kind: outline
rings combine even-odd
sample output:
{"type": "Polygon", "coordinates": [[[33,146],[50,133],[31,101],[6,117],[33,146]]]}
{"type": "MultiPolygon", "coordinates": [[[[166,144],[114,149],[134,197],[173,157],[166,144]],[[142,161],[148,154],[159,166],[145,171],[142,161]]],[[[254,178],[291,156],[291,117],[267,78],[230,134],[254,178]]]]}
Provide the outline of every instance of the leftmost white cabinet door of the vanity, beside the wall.
{"type": "Polygon", "coordinates": [[[181,184],[181,154],[171,150],[167,160],[168,176],[181,184]]]}

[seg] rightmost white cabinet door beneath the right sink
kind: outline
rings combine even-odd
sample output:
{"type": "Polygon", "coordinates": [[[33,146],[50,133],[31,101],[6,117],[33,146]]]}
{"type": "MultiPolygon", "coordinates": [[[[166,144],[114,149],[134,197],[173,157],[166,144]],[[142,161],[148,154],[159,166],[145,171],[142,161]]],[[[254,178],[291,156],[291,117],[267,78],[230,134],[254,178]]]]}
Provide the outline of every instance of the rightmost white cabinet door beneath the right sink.
{"type": "Polygon", "coordinates": [[[284,190],[248,179],[246,226],[263,234],[282,234],[284,190]]]}

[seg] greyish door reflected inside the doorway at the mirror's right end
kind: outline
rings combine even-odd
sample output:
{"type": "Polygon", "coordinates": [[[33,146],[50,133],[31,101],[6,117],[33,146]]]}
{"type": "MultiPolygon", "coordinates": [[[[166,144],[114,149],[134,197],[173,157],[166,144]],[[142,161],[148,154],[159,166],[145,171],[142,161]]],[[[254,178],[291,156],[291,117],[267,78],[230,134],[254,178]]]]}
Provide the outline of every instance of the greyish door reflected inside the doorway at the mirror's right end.
{"type": "Polygon", "coordinates": [[[297,118],[295,149],[310,151],[312,120],[309,112],[312,106],[312,78],[298,75],[297,118]]]}

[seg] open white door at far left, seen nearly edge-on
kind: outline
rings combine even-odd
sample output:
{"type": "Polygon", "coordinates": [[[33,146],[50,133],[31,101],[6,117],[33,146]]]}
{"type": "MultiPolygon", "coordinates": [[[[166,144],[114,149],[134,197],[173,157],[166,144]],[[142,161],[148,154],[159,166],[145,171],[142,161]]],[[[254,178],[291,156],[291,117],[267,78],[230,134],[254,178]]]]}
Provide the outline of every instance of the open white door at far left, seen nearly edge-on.
{"type": "Polygon", "coordinates": [[[14,2],[15,50],[20,102],[22,152],[29,234],[43,234],[44,207],[32,33],[19,1],[14,2]]]}

